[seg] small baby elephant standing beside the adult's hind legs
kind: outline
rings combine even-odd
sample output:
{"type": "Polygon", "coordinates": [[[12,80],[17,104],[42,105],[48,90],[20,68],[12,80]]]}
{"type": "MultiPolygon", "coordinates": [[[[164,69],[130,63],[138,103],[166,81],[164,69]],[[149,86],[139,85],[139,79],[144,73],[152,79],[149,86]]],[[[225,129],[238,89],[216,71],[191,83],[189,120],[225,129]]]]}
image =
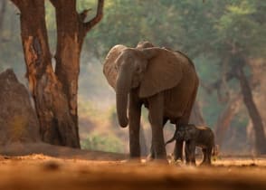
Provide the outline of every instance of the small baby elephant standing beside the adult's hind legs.
{"type": "Polygon", "coordinates": [[[196,127],[193,124],[179,126],[173,138],[166,144],[174,140],[185,141],[185,161],[186,164],[195,165],[195,147],[202,147],[204,160],[201,165],[211,165],[211,156],[214,149],[214,132],[206,126],[196,127]]]}

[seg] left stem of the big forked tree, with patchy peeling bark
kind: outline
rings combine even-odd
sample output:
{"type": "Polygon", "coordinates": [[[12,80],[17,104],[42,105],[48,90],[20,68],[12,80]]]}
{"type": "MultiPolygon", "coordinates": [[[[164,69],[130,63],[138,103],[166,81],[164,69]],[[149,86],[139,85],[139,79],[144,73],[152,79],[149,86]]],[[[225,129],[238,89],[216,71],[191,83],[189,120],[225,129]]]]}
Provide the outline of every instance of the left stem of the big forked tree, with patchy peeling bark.
{"type": "Polygon", "coordinates": [[[44,18],[44,0],[13,1],[21,12],[21,37],[26,77],[33,95],[44,142],[80,147],[62,83],[52,71],[44,18]]]}

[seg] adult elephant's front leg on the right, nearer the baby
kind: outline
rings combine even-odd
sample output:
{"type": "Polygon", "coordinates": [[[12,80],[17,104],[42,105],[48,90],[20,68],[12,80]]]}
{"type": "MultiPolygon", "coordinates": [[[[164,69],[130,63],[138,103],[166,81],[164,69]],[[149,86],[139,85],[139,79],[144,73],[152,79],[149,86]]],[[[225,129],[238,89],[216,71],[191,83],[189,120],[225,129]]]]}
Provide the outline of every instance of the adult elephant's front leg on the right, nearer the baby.
{"type": "Polygon", "coordinates": [[[152,130],[152,149],[156,159],[166,160],[166,147],[163,131],[163,114],[164,114],[164,96],[159,93],[150,99],[149,103],[149,119],[152,130]]]}

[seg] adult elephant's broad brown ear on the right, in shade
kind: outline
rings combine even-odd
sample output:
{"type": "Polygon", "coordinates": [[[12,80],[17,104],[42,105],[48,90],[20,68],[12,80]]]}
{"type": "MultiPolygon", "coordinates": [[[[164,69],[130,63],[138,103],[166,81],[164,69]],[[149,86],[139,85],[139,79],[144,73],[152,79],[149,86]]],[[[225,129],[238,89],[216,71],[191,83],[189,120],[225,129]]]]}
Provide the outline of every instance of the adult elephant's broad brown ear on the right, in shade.
{"type": "Polygon", "coordinates": [[[182,79],[182,62],[173,52],[161,48],[142,50],[147,59],[147,71],[140,83],[139,97],[147,98],[175,87],[182,79]]]}

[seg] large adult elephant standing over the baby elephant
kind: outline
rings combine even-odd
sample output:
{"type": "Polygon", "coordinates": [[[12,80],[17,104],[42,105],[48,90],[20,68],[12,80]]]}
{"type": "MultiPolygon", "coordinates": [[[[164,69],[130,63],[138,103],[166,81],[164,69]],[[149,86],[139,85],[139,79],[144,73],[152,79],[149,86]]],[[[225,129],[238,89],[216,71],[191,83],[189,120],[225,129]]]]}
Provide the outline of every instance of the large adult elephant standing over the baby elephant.
{"type": "MultiPolygon", "coordinates": [[[[140,157],[139,126],[144,104],[152,128],[151,156],[166,159],[163,126],[167,120],[176,128],[187,124],[195,102],[198,77],[193,62],[181,52],[119,44],[110,49],[103,72],[116,90],[119,125],[125,128],[129,123],[130,157],[140,157]]],[[[175,159],[182,159],[182,147],[183,142],[176,141],[175,159]]]]}

